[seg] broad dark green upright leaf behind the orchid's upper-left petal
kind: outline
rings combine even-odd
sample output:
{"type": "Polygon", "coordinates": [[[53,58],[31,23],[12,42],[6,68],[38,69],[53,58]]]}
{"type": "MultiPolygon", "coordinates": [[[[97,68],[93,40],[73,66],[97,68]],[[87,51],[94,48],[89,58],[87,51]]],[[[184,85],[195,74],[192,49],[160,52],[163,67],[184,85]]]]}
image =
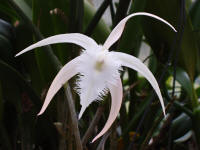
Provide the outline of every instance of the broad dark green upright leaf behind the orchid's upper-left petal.
{"type": "MultiPolygon", "coordinates": [[[[67,27],[63,22],[59,14],[51,15],[50,11],[55,8],[59,8],[65,14],[67,14],[67,3],[64,0],[60,1],[48,1],[48,0],[34,0],[33,1],[33,22],[40,29],[40,32],[45,36],[53,36],[59,33],[66,33],[67,27]],[[41,9],[42,8],[42,9],[41,9]],[[48,26],[48,27],[47,27],[48,26]]],[[[66,47],[55,45],[53,49],[57,54],[59,54],[61,60],[67,60],[69,50],[66,47]]],[[[52,65],[53,62],[49,57],[47,57],[47,52],[44,48],[38,48],[35,50],[35,56],[37,64],[39,67],[39,72],[41,78],[44,81],[44,86],[49,84],[55,77],[57,70],[55,70],[52,65]]]]}

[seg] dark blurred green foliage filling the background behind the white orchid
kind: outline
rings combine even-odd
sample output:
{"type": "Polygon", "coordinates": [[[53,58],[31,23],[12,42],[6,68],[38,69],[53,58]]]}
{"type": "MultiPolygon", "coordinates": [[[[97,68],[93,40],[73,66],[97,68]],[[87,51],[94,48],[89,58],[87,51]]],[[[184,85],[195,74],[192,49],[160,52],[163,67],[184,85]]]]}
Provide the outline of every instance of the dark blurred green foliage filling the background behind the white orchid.
{"type": "MultiPolygon", "coordinates": [[[[178,31],[173,33],[148,17],[136,17],[127,23],[122,38],[114,46],[134,56],[148,51],[145,61],[160,84],[167,118],[162,117],[160,104],[148,82],[136,72],[125,70],[122,79],[126,94],[111,130],[90,143],[105,124],[109,97],[101,105],[93,103],[79,120],[78,132],[83,140],[96,119],[89,139],[82,141],[83,149],[200,148],[200,2],[109,0],[104,6],[111,11],[112,17],[108,18],[111,25],[102,17],[94,18],[98,10],[93,0],[0,0],[0,149],[78,149],[73,118],[70,118],[63,90],[42,116],[37,117],[37,113],[58,68],[76,57],[80,48],[56,44],[17,58],[15,54],[42,37],[85,33],[86,29],[102,44],[113,25],[138,11],[156,14],[178,31]],[[94,20],[96,22],[90,24],[94,20]]],[[[70,86],[74,86],[73,80],[70,86]]],[[[72,96],[78,113],[78,96],[73,91],[72,96]]]]}

